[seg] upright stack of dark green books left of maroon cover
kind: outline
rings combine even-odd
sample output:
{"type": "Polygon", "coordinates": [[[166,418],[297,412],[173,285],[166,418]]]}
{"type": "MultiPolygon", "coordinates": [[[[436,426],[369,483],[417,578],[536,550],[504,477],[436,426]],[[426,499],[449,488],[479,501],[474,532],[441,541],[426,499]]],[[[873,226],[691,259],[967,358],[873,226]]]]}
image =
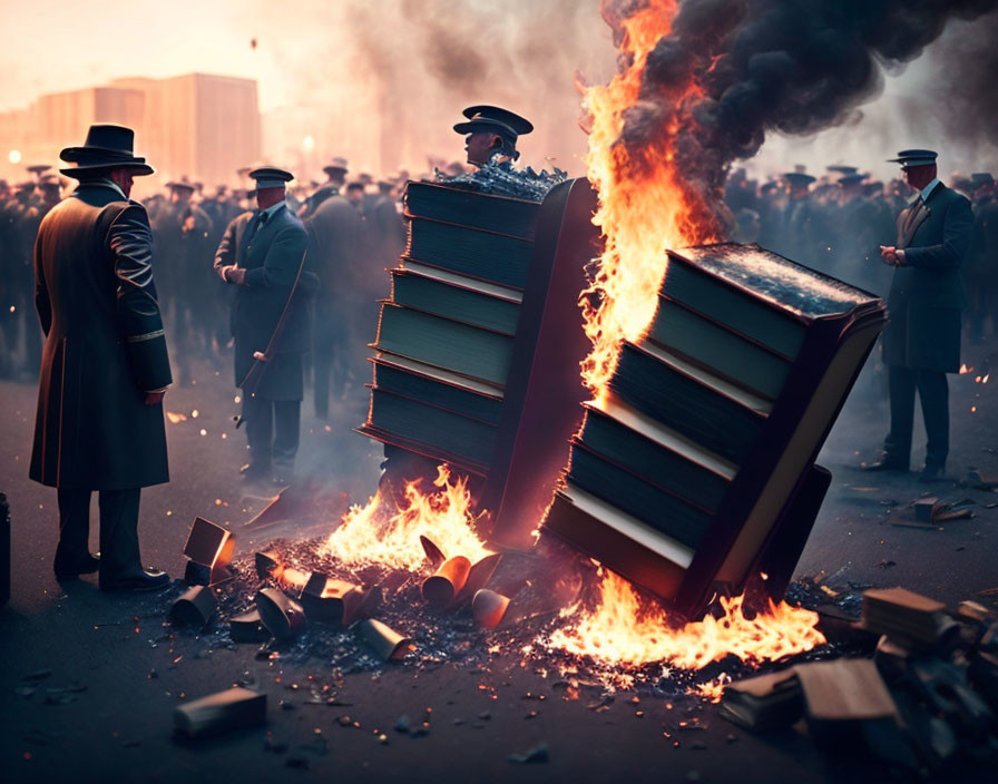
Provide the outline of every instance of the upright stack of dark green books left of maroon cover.
{"type": "Polygon", "coordinates": [[[409,183],[360,432],[486,476],[540,204],[409,183]]]}

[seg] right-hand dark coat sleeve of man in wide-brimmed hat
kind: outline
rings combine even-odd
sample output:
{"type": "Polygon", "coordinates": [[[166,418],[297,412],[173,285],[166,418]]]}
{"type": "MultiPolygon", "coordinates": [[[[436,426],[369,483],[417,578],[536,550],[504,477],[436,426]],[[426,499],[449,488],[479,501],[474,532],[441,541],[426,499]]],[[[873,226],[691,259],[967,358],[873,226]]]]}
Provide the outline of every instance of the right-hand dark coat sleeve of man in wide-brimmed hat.
{"type": "Polygon", "coordinates": [[[145,207],[131,203],[121,212],[108,231],[108,247],[118,283],[118,329],[135,382],[144,392],[165,389],[173,376],[153,284],[153,232],[145,207]]]}

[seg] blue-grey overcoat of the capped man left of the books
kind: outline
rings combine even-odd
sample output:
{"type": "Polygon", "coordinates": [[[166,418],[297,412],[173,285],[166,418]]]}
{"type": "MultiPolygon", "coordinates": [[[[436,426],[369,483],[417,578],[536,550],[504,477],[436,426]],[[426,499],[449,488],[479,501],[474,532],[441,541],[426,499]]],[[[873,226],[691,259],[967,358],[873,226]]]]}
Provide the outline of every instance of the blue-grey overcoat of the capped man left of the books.
{"type": "MultiPolygon", "coordinates": [[[[246,271],[233,303],[236,386],[243,385],[253,366],[253,353],[267,349],[287,304],[307,242],[305,227],[286,206],[277,209],[266,223],[257,225],[258,222],[257,215],[248,220],[242,216],[235,218],[215,254],[215,264],[219,266],[219,256],[232,258],[231,248],[235,245],[234,263],[246,271]]],[[[302,354],[309,351],[311,343],[306,302],[314,292],[314,275],[303,273],[295,290],[276,352],[255,390],[265,400],[301,400],[303,396],[302,354]]]]}

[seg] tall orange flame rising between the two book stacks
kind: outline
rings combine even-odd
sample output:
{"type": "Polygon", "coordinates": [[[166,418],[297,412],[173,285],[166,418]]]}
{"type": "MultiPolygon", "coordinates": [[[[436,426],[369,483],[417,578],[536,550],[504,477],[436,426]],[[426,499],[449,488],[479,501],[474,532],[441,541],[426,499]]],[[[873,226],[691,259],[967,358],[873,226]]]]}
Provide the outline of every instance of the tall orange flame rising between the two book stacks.
{"type": "Polygon", "coordinates": [[[672,115],[647,118],[656,127],[639,143],[629,144],[625,128],[643,110],[648,55],[669,33],[677,8],[677,0],[648,0],[622,19],[614,3],[604,0],[603,13],[617,35],[625,67],[608,85],[584,91],[590,125],[587,176],[599,195],[594,223],[606,239],[593,284],[579,300],[593,342],[583,379],[597,402],[616,367],[620,341],[640,337],[655,315],[667,264],[664,251],[714,238],[710,210],[675,159],[676,136],[691,121],[684,107],[701,88],[691,80],[669,95],[672,115]]]}

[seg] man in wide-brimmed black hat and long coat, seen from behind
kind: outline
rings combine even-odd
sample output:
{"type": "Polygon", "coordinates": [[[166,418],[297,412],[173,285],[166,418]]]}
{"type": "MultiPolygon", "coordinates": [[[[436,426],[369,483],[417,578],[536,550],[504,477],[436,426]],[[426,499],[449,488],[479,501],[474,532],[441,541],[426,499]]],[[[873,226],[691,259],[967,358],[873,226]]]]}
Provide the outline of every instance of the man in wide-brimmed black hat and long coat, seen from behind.
{"type": "Polygon", "coordinates": [[[104,590],[151,590],[169,577],[141,566],[141,488],[169,481],[163,394],[172,382],[153,284],[153,234],[128,198],[153,174],[133,154],[134,133],[94,125],[60,157],[79,180],[41,223],[35,243],[36,306],[46,334],[31,479],[58,488],[55,571],[100,570],[104,590]],[[90,494],[100,502],[100,559],[88,551],[90,494]]]}

